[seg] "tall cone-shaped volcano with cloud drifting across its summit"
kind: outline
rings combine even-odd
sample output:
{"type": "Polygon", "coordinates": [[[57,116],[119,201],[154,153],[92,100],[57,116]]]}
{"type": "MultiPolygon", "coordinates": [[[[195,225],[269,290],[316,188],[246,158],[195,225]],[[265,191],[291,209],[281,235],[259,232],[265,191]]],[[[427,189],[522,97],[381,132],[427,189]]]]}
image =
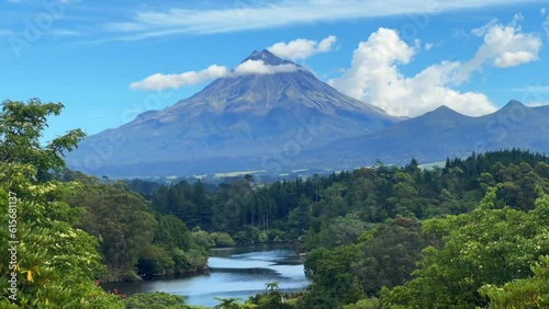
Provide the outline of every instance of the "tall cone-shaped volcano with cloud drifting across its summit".
{"type": "Polygon", "coordinates": [[[191,98],[86,138],[67,163],[110,176],[281,170],[303,151],[399,121],[261,50],[191,98]]]}

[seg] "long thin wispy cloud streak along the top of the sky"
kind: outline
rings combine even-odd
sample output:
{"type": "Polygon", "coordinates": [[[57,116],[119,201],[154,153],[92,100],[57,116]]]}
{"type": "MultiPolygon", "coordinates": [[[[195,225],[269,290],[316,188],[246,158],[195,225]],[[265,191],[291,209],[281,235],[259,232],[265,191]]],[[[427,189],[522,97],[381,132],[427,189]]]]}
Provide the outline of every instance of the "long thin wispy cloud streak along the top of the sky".
{"type": "Polygon", "coordinates": [[[102,28],[117,33],[108,41],[133,41],[175,34],[224,33],[272,28],[315,22],[332,22],[362,18],[439,13],[493,5],[520,4],[524,0],[274,0],[236,2],[234,7],[210,10],[184,7],[137,11],[128,20],[103,24],[102,28]]]}

